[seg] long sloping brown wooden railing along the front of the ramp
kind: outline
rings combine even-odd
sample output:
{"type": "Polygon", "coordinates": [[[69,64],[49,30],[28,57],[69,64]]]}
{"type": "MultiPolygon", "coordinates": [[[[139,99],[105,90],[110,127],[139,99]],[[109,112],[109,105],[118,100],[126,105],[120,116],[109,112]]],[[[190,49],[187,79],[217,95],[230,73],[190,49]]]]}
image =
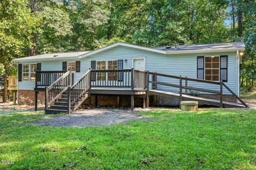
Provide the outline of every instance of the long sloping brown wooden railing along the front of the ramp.
{"type": "MultiPolygon", "coordinates": [[[[222,81],[210,81],[210,80],[201,80],[201,79],[194,79],[194,78],[188,78],[188,77],[182,77],[177,76],[177,75],[170,75],[170,74],[162,74],[162,73],[156,73],[156,72],[148,72],[148,78],[149,78],[149,74],[151,75],[159,75],[162,77],[167,77],[167,78],[174,78],[174,79],[179,79],[180,80],[180,84],[171,84],[171,83],[164,83],[164,82],[159,82],[159,81],[149,81],[149,79],[147,79],[148,83],[153,83],[153,84],[161,84],[163,86],[171,86],[171,87],[176,87],[176,88],[180,88],[182,89],[191,89],[191,90],[196,90],[196,91],[204,91],[204,92],[210,92],[213,94],[219,94],[220,95],[220,107],[222,107],[222,86],[224,86],[233,96],[236,97],[236,99],[238,99],[245,107],[249,108],[248,105],[246,105],[244,103],[244,101],[239,98],[225,83],[223,83],[222,81]],[[186,86],[182,86],[182,80],[186,81],[186,86]],[[210,83],[210,84],[217,84],[220,85],[220,91],[216,91],[216,90],[207,90],[207,89],[202,89],[202,88],[195,88],[195,87],[188,87],[187,86],[187,81],[196,81],[196,82],[202,82],[202,83],[210,83]],[[217,93],[218,92],[218,93],[217,93]]],[[[147,89],[149,89],[149,87],[147,86],[147,89]]],[[[182,99],[182,92],[180,90],[180,99],[182,99]]],[[[186,92],[187,94],[187,92],[186,92]]]]}

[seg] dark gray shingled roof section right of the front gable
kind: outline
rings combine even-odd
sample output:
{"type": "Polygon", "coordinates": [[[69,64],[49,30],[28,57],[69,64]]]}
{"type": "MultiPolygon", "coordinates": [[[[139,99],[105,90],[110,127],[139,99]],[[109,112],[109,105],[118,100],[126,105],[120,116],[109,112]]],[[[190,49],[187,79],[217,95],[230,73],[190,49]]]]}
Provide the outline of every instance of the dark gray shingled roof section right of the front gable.
{"type": "Polygon", "coordinates": [[[192,45],[175,45],[172,46],[160,46],[153,47],[155,49],[161,49],[166,51],[186,51],[186,50],[221,50],[221,49],[239,49],[245,48],[244,42],[235,43],[211,43],[211,44],[192,44],[192,45]],[[171,48],[166,48],[171,47],[171,48]]]}

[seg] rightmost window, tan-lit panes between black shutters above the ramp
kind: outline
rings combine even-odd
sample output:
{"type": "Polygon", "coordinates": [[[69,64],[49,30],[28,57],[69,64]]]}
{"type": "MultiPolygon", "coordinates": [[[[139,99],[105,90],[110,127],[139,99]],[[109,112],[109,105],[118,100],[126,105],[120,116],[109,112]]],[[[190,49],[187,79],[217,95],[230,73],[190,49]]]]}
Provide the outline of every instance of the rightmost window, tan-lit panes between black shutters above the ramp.
{"type": "Polygon", "coordinates": [[[204,58],[204,75],[205,80],[219,81],[220,72],[220,57],[211,56],[204,58]]]}

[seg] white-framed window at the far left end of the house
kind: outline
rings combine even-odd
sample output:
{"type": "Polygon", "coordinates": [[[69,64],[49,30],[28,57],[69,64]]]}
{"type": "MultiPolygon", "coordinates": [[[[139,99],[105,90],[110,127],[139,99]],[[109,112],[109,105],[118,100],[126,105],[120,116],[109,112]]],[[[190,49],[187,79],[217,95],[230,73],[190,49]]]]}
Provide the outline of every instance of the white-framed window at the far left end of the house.
{"type": "Polygon", "coordinates": [[[37,64],[22,64],[22,81],[36,80],[37,64]]]}

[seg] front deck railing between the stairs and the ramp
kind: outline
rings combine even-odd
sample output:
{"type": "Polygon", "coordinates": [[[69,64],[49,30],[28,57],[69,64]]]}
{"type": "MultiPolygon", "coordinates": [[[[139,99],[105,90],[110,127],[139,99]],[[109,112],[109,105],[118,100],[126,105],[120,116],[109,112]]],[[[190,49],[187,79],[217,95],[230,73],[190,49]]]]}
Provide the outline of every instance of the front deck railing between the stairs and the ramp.
{"type": "Polygon", "coordinates": [[[91,87],[146,89],[146,72],[134,69],[91,70],[91,87]]]}

